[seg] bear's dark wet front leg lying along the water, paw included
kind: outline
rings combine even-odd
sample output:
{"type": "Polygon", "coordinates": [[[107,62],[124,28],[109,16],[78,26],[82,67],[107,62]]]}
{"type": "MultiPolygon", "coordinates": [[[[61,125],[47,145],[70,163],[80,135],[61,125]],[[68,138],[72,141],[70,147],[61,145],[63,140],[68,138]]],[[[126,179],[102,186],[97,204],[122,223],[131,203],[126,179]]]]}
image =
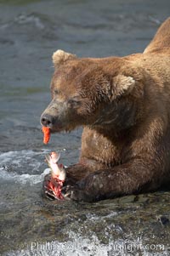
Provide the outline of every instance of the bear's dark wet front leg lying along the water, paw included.
{"type": "Polygon", "coordinates": [[[65,194],[72,200],[95,202],[140,191],[153,191],[161,185],[162,174],[158,172],[158,166],[141,158],[133,159],[115,168],[89,174],[76,185],[65,187],[65,194]]]}

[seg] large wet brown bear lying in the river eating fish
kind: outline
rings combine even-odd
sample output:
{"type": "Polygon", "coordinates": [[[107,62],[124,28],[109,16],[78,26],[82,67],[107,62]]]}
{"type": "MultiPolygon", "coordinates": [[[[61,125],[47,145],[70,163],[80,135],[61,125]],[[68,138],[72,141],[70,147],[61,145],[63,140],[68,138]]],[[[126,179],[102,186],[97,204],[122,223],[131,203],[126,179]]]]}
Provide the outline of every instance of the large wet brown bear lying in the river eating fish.
{"type": "Polygon", "coordinates": [[[170,182],[170,18],[143,54],[53,55],[52,133],[83,127],[80,161],[67,169],[76,201],[155,191],[170,182]]]}

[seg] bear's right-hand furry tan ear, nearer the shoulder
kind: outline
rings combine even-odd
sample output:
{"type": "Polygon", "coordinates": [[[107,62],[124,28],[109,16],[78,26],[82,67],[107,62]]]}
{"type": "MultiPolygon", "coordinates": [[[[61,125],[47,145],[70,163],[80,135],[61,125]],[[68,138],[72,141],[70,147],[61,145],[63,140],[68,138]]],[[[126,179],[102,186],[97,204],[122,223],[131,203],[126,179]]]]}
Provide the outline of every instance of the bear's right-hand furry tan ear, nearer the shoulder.
{"type": "Polygon", "coordinates": [[[120,96],[122,94],[129,94],[135,86],[135,80],[133,77],[127,77],[124,75],[117,75],[113,78],[112,82],[112,98],[120,96]]]}

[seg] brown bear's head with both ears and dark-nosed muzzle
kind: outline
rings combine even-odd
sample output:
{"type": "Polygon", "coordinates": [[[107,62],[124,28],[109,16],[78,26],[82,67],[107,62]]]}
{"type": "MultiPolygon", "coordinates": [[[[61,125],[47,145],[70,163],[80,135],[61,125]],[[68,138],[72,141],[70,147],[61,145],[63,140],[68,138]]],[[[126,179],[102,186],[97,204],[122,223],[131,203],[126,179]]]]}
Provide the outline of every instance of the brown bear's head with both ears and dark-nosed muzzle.
{"type": "Polygon", "coordinates": [[[42,125],[52,132],[85,125],[91,128],[133,125],[135,101],[141,96],[139,89],[135,90],[140,77],[137,81],[123,71],[125,60],[77,58],[57,50],[53,62],[52,101],[42,113],[42,125]]]}

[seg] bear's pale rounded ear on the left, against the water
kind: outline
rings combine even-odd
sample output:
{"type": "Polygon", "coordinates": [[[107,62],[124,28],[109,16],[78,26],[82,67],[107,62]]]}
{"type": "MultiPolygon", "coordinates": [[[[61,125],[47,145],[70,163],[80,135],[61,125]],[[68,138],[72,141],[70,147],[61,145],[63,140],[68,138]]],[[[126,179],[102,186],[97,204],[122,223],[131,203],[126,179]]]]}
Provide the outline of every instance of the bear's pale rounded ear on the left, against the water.
{"type": "Polygon", "coordinates": [[[55,67],[65,63],[67,60],[76,59],[77,56],[74,54],[65,53],[63,50],[57,50],[54,52],[52,59],[55,67]]]}

